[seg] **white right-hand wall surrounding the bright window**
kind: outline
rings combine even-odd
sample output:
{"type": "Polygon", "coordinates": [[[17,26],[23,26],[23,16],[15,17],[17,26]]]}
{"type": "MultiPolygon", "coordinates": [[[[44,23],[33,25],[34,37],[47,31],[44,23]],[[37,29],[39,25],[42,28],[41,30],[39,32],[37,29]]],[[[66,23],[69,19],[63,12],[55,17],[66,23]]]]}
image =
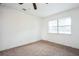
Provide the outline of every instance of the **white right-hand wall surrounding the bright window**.
{"type": "Polygon", "coordinates": [[[42,39],[55,43],[79,48],[79,8],[51,15],[42,21],[42,39]],[[50,34],[47,33],[47,24],[50,19],[71,16],[72,18],[72,34],[50,34]]]}

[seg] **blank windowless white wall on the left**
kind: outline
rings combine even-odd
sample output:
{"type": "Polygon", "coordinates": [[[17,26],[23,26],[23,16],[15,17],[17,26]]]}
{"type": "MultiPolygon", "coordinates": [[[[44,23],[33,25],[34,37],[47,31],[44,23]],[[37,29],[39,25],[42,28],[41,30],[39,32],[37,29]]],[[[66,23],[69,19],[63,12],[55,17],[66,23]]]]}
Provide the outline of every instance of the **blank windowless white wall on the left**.
{"type": "Polygon", "coordinates": [[[40,40],[40,18],[0,6],[0,50],[40,40]]]}

